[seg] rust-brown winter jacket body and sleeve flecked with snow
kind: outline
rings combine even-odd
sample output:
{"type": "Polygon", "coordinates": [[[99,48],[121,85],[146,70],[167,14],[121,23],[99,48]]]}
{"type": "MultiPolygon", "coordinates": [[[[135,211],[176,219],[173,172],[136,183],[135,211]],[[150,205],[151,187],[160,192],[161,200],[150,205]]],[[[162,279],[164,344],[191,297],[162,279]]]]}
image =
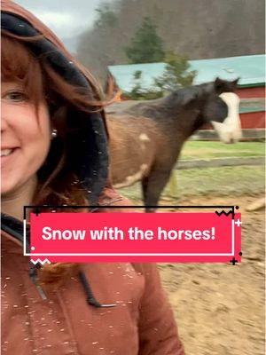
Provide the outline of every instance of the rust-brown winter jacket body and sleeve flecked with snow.
{"type": "MultiPolygon", "coordinates": [[[[105,204],[127,204],[105,194],[105,204]]],[[[1,254],[3,354],[184,355],[155,264],[81,264],[98,302],[115,304],[96,308],[77,277],[43,287],[43,300],[20,242],[7,233],[1,254]]]]}

